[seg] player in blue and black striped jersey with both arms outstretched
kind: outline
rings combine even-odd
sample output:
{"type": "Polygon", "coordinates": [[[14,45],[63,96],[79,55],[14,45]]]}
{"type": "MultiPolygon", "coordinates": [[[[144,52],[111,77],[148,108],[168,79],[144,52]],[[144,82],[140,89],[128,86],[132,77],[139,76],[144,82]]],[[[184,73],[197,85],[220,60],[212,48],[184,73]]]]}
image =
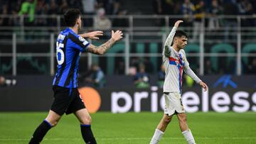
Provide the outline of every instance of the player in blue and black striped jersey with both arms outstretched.
{"type": "Polygon", "coordinates": [[[102,32],[95,31],[78,35],[82,26],[81,13],[78,9],[69,9],[64,14],[68,28],[61,31],[57,38],[56,56],[58,70],[53,80],[54,101],[46,119],[36,128],[29,143],[40,143],[44,135],[56,126],[63,113],[74,113],[80,121],[82,138],[85,143],[95,144],[91,130],[91,117],[78,92],[78,62],[81,52],[103,55],[122,38],[122,31],[112,31],[112,38],[100,46],[87,42],[83,37],[97,39],[102,32]]]}

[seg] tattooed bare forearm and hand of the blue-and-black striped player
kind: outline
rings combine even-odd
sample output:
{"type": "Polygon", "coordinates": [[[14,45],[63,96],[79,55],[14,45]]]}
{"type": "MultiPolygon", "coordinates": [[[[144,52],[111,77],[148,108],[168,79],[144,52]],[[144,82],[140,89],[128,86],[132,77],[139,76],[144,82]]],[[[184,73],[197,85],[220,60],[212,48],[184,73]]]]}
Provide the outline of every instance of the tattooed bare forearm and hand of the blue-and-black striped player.
{"type": "Polygon", "coordinates": [[[112,38],[110,38],[110,40],[100,46],[95,46],[92,44],[88,45],[87,52],[91,52],[96,55],[103,55],[105,52],[107,52],[108,49],[112,47],[112,45],[114,45],[114,43],[122,38],[122,35],[122,31],[112,31],[112,38]]]}

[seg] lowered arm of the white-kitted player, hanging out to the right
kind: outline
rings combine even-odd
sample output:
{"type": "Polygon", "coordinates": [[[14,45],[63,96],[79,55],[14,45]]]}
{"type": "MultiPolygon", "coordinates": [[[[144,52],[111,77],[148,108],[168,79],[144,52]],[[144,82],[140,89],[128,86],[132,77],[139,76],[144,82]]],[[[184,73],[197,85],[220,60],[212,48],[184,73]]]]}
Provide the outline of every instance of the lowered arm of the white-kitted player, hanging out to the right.
{"type": "Polygon", "coordinates": [[[184,56],[183,58],[184,58],[184,62],[185,62],[184,67],[183,67],[184,72],[186,72],[186,74],[188,74],[189,77],[191,77],[194,81],[196,81],[196,83],[198,83],[201,87],[203,87],[203,89],[205,91],[207,91],[207,89],[208,89],[207,84],[204,83],[201,79],[199,79],[198,76],[195,74],[195,72],[193,72],[193,70],[191,70],[191,68],[189,67],[188,60],[186,59],[186,56],[184,56]]]}

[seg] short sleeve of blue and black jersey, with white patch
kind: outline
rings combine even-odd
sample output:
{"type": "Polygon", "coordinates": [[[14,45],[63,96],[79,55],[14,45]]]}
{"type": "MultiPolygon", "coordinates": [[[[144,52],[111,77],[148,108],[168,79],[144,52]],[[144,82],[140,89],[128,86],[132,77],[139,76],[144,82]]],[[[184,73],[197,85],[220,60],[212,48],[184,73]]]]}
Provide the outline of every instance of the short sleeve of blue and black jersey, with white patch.
{"type": "Polygon", "coordinates": [[[85,38],[82,38],[81,36],[77,37],[70,33],[68,35],[68,45],[70,45],[71,48],[80,50],[80,52],[85,52],[90,43],[85,40],[85,38]]]}

